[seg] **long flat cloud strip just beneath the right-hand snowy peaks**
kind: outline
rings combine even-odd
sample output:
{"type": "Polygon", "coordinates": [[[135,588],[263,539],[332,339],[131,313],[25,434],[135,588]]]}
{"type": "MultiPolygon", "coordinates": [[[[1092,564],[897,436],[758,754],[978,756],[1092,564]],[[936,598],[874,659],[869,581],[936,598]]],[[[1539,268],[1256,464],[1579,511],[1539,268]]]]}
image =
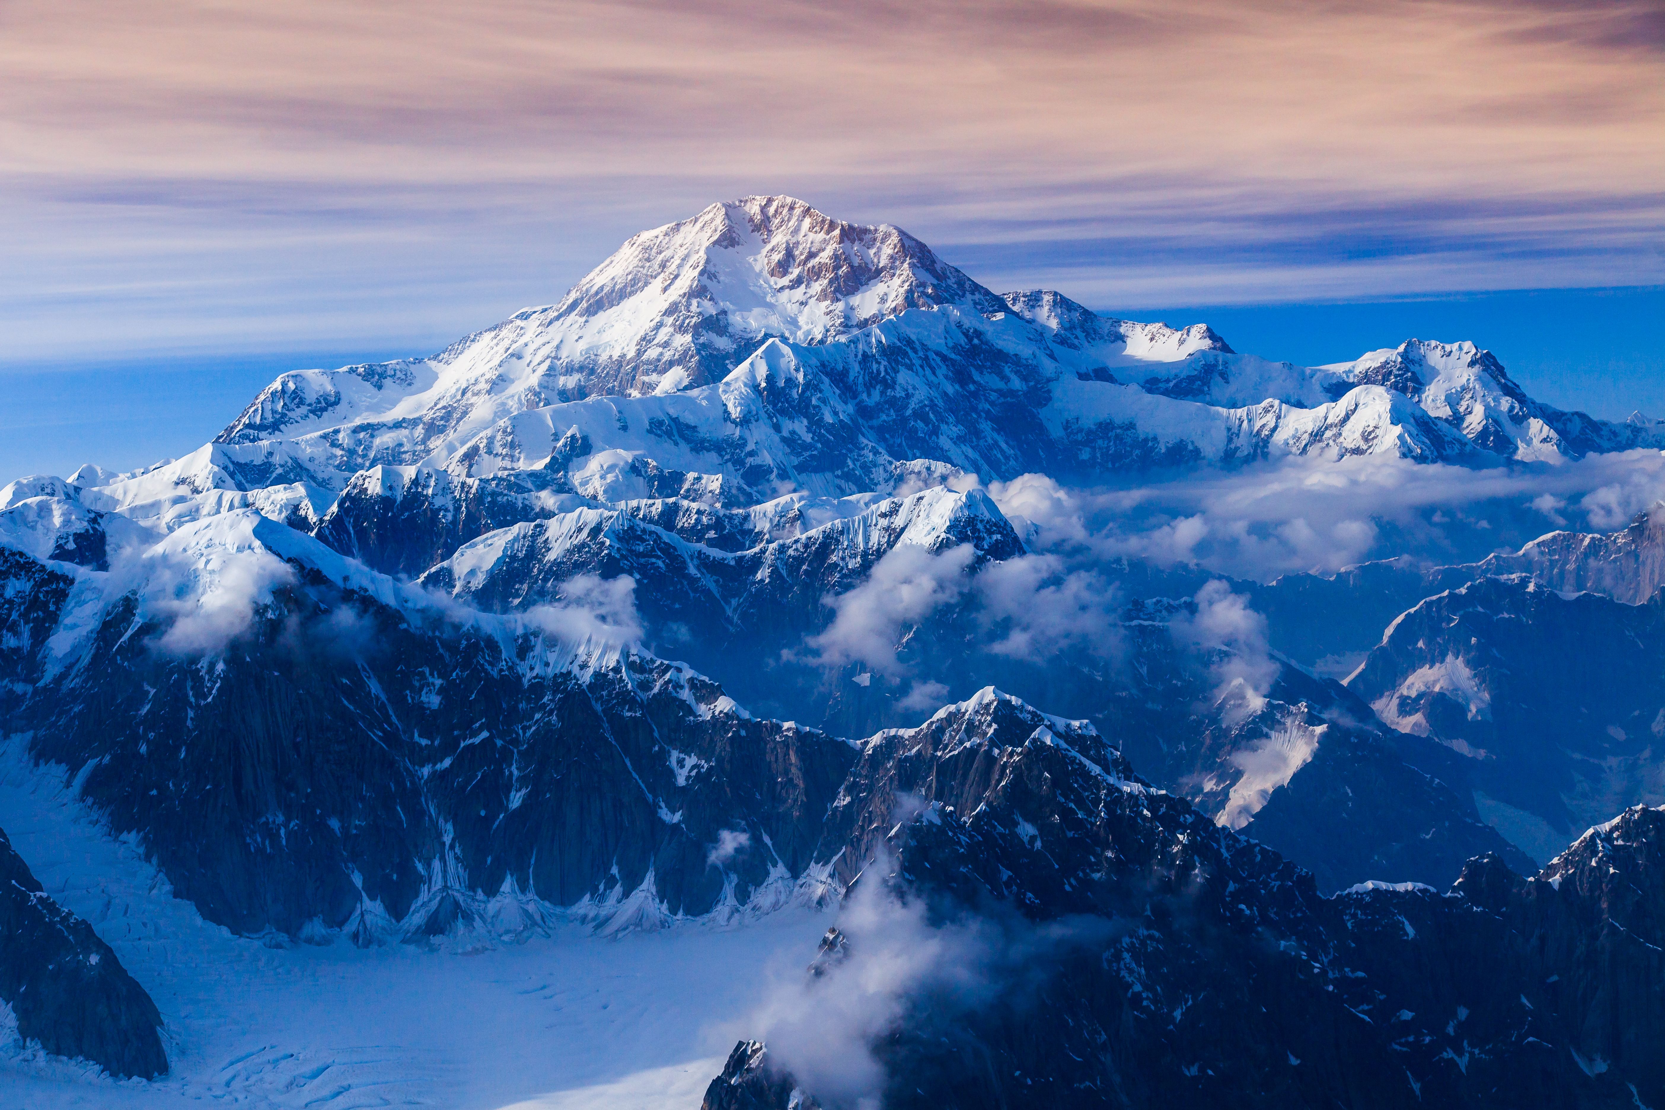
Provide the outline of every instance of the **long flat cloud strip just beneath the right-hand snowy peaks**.
{"type": "Polygon", "coordinates": [[[1492,469],[1294,458],[1116,489],[1024,474],[989,493],[1032,551],[1072,566],[1131,557],[1269,581],[1399,554],[1474,561],[1560,528],[1612,531],[1665,498],[1665,456],[1492,469]]]}

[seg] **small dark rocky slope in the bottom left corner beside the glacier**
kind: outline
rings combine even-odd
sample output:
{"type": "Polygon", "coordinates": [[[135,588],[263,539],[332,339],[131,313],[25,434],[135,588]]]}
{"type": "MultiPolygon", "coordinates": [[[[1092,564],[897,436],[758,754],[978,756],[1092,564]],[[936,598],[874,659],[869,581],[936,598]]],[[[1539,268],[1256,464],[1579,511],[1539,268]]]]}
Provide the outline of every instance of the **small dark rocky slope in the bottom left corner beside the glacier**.
{"type": "Polygon", "coordinates": [[[18,1037],[118,1077],[168,1070],[162,1015],[92,925],[47,897],[0,830],[0,1002],[18,1037]]]}

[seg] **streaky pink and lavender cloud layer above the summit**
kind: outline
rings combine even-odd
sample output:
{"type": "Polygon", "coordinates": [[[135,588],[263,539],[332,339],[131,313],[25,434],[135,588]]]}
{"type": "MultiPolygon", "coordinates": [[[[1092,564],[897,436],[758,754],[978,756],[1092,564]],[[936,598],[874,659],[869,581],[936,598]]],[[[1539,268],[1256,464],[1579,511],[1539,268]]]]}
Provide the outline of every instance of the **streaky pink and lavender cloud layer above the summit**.
{"type": "Polygon", "coordinates": [[[1648,0],[20,0],[0,30],[33,351],[445,339],[749,191],[1104,306],[1665,280],[1648,0]]]}

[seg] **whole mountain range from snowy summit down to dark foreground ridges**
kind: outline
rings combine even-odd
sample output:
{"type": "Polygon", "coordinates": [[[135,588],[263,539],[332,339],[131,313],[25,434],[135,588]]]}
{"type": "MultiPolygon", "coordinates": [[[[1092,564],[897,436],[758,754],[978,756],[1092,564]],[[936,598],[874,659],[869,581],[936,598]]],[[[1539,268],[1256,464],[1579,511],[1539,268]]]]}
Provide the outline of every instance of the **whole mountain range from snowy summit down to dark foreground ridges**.
{"type": "MultiPolygon", "coordinates": [[[[753,196],[180,459],[0,489],[0,712],[275,945],[842,900],[806,1005],[896,955],[882,1020],[759,1027],[714,1107],[1657,1103],[1652,518],[1259,582],[1189,561],[1204,514],[1159,551],[1064,508],[1285,464],[1642,489],[1603,453],[1658,446],[1469,343],[1274,363],[753,196]]],[[[28,967],[50,1052],[165,1067],[113,959],[28,967]]]]}

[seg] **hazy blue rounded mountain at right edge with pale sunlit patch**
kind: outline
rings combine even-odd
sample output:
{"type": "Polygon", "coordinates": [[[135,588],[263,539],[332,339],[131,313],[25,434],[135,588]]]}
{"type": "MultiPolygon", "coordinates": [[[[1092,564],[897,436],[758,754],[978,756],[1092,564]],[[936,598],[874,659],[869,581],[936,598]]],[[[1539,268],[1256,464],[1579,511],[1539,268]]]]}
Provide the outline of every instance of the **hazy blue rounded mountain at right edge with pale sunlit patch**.
{"type": "Polygon", "coordinates": [[[1487,577],[1400,616],[1347,684],[1389,724],[1467,757],[1513,839],[1547,859],[1592,819],[1665,800],[1658,601],[1487,577]],[[1658,727],[1655,727],[1658,726],[1658,727]]]}

